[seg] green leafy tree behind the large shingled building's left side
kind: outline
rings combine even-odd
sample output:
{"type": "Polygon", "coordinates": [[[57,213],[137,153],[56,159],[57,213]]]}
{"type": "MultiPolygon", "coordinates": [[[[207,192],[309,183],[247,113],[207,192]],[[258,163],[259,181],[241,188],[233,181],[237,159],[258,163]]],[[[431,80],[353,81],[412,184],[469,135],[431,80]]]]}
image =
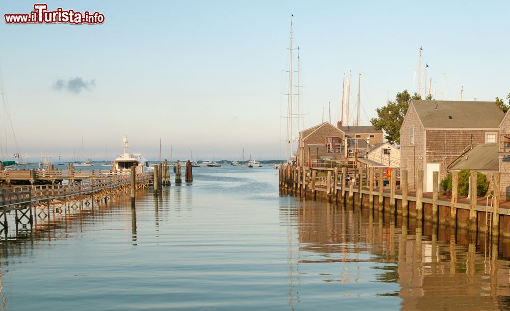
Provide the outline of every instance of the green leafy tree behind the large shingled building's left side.
{"type": "MultiPolygon", "coordinates": [[[[429,95],[426,99],[431,98],[432,96],[429,95]]],[[[390,144],[400,144],[400,126],[404,121],[407,108],[411,100],[420,99],[420,94],[414,93],[411,96],[407,90],[397,93],[395,101],[389,101],[386,106],[375,109],[377,118],[370,120],[370,123],[376,130],[384,130],[385,138],[390,144]]]]}

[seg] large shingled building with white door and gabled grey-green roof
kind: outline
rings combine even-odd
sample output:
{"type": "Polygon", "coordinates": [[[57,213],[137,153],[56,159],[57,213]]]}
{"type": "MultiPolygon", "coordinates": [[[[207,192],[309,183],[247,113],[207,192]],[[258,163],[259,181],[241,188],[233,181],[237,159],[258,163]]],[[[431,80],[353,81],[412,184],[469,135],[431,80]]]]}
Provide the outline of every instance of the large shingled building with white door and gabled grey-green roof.
{"type": "Polygon", "coordinates": [[[465,152],[499,143],[503,117],[495,102],[412,100],[400,128],[400,163],[409,189],[416,189],[416,171],[423,170],[423,191],[430,192],[432,172],[441,181],[465,152]]]}

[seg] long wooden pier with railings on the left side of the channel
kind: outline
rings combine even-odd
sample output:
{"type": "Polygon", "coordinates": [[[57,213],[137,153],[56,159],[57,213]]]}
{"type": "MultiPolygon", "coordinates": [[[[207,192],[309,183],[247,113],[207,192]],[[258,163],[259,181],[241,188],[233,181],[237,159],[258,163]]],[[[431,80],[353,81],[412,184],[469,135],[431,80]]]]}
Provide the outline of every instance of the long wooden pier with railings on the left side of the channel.
{"type": "Polygon", "coordinates": [[[37,218],[49,221],[50,215],[66,213],[95,203],[107,202],[120,196],[132,199],[137,190],[145,189],[152,180],[152,174],[131,174],[111,171],[3,171],[0,181],[28,183],[21,186],[0,187],[0,233],[7,239],[8,214],[14,212],[18,223],[37,223],[37,218]],[[37,184],[40,182],[46,184],[37,184]]]}

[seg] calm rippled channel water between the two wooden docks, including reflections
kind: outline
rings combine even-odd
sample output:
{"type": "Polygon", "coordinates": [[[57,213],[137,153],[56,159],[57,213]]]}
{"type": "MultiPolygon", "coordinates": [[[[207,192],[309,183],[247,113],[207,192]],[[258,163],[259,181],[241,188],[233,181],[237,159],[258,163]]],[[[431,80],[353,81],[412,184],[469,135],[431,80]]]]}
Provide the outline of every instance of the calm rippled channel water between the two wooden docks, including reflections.
{"type": "MultiPolygon", "coordinates": [[[[173,177],[173,176],[172,176],[173,177]]],[[[507,309],[507,242],[278,193],[272,167],[11,221],[2,308],[507,309]],[[53,217],[53,215],[52,215],[53,217]],[[499,258],[493,256],[499,253],[499,258]]]]}

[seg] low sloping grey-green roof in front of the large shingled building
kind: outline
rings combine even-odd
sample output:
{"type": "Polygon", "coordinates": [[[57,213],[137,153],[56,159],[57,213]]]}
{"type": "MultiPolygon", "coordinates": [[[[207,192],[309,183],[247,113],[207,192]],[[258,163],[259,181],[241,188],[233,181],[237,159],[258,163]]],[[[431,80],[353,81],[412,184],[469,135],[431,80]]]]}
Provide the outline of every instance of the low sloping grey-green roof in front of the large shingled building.
{"type": "Polygon", "coordinates": [[[499,171],[499,146],[497,143],[480,144],[453,161],[448,169],[474,169],[499,171]]]}

